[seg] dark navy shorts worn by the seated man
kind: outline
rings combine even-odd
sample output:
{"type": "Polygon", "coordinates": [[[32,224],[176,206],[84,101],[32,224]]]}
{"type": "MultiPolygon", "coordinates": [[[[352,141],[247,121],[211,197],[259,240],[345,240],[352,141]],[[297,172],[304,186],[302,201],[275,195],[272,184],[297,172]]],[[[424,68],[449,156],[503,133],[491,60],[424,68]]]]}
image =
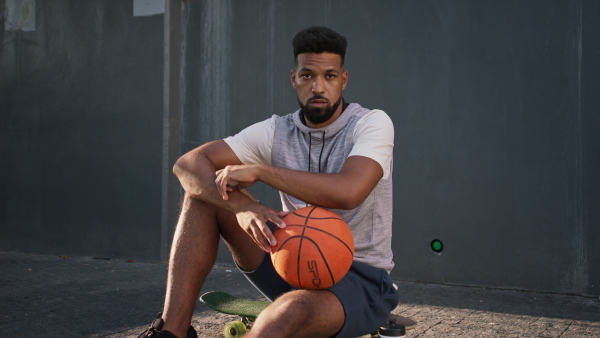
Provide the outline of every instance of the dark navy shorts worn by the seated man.
{"type": "MultiPolygon", "coordinates": [[[[270,300],[295,289],[277,274],[269,254],[265,254],[258,269],[240,271],[270,300]]],[[[387,323],[400,298],[385,270],[356,261],[346,276],[327,290],[338,297],[346,314],[344,326],[335,337],[357,337],[377,331],[387,323]]]]}

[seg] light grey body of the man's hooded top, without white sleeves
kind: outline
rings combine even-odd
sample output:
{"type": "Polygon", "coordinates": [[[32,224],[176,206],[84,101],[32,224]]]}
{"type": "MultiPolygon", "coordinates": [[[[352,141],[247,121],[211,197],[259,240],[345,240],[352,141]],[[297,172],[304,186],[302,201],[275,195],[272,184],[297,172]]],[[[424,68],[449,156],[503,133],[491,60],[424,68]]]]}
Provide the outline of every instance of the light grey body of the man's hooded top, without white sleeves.
{"type": "MultiPolygon", "coordinates": [[[[299,111],[277,118],[271,152],[272,165],[300,171],[337,173],[353,146],[357,122],[371,110],[357,103],[326,127],[313,129],[304,125],[299,111]]],[[[382,178],[365,201],[355,209],[331,211],[349,225],[354,237],[354,260],[386,270],[394,267],[392,241],[392,175],[382,178]]],[[[386,168],[387,169],[387,168],[386,168]]],[[[331,187],[335,189],[335,187],[331,187]]],[[[308,206],[280,192],[283,210],[308,206]]]]}

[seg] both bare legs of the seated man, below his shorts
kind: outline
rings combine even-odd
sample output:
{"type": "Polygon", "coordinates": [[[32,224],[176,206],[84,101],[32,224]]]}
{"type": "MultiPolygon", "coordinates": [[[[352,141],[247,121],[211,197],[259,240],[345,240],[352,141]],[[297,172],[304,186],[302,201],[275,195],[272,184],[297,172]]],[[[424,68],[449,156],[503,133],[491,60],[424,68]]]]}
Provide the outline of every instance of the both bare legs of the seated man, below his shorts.
{"type": "MultiPolygon", "coordinates": [[[[264,258],[235,215],[184,197],[171,247],[163,330],[185,337],[196,300],[217,256],[222,235],[238,265],[255,270],[264,258]]],[[[248,337],[329,337],[344,323],[344,309],[329,291],[297,290],[277,298],[257,318],[248,337]]]]}

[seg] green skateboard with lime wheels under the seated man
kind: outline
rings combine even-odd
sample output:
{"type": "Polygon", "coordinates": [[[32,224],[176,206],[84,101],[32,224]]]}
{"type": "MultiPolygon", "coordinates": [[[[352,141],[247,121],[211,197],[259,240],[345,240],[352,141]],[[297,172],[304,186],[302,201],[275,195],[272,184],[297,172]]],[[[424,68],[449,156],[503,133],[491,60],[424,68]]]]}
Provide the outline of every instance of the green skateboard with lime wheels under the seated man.
{"type": "MultiPolygon", "coordinates": [[[[200,296],[200,301],[215,311],[240,317],[225,325],[225,338],[243,337],[252,328],[256,317],[271,304],[269,301],[242,299],[220,291],[207,292],[200,296]]],[[[404,325],[407,330],[417,325],[414,320],[395,314],[391,314],[389,320],[404,325]]],[[[379,337],[379,334],[374,332],[371,337],[379,337]]]]}

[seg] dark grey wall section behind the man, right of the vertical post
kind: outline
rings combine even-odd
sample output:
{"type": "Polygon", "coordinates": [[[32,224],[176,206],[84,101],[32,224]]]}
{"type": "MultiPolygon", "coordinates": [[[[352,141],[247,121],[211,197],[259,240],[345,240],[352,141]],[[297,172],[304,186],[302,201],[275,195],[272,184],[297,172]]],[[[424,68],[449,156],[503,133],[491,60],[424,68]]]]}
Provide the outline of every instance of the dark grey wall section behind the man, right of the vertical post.
{"type": "Polygon", "coordinates": [[[599,9],[594,1],[190,3],[185,148],[296,109],[290,40],[331,26],[349,38],[346,99],[395,123],[393,275],[598,295],[599,9]]]}

